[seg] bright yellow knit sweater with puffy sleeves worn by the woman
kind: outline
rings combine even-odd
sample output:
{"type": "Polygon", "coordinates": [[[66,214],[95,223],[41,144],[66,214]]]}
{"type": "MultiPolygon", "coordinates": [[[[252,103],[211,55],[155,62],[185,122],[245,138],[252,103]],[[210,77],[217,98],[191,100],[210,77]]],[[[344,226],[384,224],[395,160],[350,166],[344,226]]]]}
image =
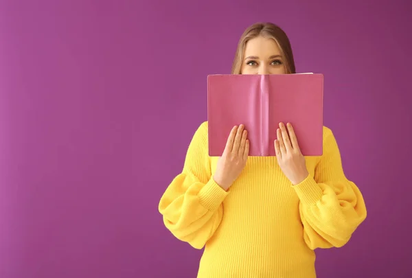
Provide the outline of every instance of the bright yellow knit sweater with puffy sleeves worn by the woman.
{"type": "Polygon", "coordinates": [[[205,247],[198,278],[314,278],[314,249],[343,246],[366,218],[329,128],[323,128],[323,155],[306,157],[310,174],[295,186],[276,157],[249,157],[225,192],[213,179],[217,161],[208,156],[205,121],[159,202],[176,238],[205,247]]]}

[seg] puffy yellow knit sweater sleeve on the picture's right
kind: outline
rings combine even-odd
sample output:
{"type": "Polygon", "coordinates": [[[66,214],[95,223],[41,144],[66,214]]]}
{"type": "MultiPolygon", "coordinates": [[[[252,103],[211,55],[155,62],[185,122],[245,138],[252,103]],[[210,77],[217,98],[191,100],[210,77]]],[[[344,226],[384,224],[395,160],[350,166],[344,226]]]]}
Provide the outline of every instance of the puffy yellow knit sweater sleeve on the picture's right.
{"type": "Polygon", "coordinates": [[[312,250],[345,245],[367,216],[360,190],[343,173],[332,130],[324,128],[324,134],[323,155],[314,178],[308,176],[293,186],[299,197],[304,240],[312,250]]]}

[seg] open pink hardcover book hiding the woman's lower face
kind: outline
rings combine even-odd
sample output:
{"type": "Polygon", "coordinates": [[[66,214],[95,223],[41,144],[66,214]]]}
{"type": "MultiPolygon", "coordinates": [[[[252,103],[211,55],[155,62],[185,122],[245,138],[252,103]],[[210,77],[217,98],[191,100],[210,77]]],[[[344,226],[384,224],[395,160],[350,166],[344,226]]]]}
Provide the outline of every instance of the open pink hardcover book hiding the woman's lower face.
{"type": "Polygon", "coordinates": [[[323,150],[323,75],[207,76],[209,156],[220,157],[233,126],[244,124],[249,156],[275,156],[279,122],[290,122],[304,156],[323,150]]]}

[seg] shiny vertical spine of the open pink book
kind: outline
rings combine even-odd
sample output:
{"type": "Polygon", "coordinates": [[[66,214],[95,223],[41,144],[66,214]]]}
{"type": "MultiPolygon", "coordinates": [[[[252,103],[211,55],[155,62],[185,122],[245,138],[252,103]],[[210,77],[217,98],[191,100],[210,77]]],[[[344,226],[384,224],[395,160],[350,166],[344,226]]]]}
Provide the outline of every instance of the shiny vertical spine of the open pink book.
{"type": "Polygon", "coordinates": [[[262,75],[260,80],[260,152],[262,157],[269,155],[269,82],[268,76],[262,75]]]}

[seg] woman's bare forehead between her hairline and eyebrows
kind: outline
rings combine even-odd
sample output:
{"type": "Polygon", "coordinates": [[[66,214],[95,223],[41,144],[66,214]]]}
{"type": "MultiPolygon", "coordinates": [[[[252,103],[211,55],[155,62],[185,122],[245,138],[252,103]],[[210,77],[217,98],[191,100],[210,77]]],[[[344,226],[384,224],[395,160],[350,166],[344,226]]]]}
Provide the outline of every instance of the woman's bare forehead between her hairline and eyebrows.
{"type": "Polygon", "coordinates": [[[280,49],[273,38],[258,36],[249,40],[244,47],[244,56],[273,56],[280,55],[280,49]]]}

